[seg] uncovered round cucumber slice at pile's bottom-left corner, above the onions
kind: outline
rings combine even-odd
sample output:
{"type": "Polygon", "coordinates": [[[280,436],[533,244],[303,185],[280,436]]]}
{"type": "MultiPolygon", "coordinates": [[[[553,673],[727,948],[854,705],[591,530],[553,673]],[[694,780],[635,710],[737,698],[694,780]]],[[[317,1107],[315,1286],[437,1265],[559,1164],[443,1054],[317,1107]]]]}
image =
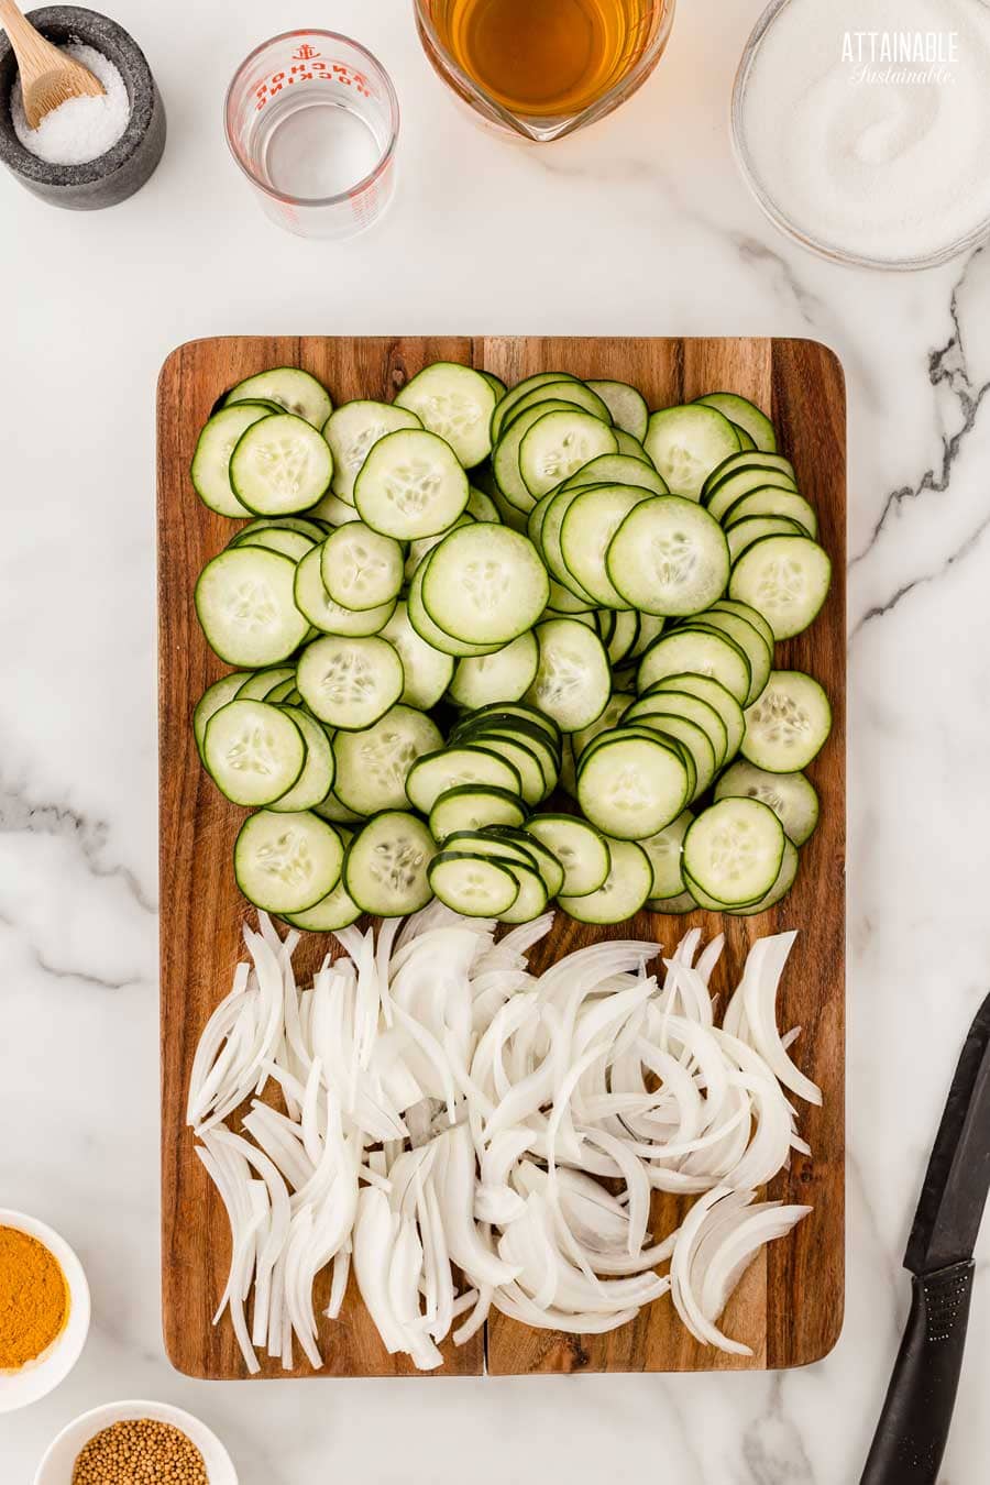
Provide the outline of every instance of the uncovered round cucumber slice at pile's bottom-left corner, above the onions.
{"type": "Polygon", "coordinates": [[[248,815],[235,842],[237,887],[266,913],[301,913],[340,881],[344,848],[331,824],[315,814],[248,815]]]}

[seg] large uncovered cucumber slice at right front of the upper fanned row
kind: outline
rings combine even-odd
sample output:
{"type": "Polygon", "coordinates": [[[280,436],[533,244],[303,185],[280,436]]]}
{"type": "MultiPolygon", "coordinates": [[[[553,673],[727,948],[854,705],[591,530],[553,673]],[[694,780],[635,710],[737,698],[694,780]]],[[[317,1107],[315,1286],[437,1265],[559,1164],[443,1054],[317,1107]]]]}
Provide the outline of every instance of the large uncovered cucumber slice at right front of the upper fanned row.
{"type": "Polygon", "coordinates": [[[701,613],[726,591],[729,546],[708,511],[675,495],[635,505],[606,557],[612,582],[646,613],[701,613]]]}

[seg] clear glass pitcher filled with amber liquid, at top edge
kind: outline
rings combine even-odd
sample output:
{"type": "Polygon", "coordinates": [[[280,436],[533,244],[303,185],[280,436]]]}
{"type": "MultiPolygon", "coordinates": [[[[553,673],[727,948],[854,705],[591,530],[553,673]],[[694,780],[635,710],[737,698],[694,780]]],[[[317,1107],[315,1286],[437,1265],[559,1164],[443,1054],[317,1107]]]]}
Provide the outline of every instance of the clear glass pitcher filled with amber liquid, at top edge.
{"type": "Polygon", "coordinates": [[[675,0],[413,0],[423,49],[488,123],[543,143],[603,119],[663,53],[675,0]]]}

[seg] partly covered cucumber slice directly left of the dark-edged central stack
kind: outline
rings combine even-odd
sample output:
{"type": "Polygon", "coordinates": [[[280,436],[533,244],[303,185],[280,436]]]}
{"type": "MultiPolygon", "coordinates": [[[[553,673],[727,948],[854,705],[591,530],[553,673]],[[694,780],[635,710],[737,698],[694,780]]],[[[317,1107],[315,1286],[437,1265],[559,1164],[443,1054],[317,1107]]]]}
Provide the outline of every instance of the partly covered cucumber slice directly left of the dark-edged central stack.
{"type": "Polygon", "coordinates": [[[405,809],[405,780],[417,759],[444,745],[439,728],[413,707],[396,705],[361,732],[337,732],[334,794],[358,815],[405,809]]]}

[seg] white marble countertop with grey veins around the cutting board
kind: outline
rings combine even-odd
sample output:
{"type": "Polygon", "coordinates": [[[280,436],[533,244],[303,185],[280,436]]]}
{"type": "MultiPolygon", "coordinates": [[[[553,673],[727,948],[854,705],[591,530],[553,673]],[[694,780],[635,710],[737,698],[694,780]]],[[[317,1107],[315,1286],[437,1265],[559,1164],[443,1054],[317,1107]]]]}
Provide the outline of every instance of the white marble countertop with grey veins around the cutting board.
{"type": "MultiPolygon", "coordinates": [[[[733,168],[727,99],[758,0],[683,0],[619,114],[548,150],[454,111],[407,0],[117,0],[169,110],[132,202],[59,214],[0,178],[0,1204],[79,1249],[94,1328],[70,1381],[0,1418],[30,1482],[74,1414],[202,1414],[242,1485],[839,1485],[856,1479],[905,1311],[899,1259],[956,1053],[990,979],[990,251],[919,276],[804,254],[733,168]],[[405,108],[389,218],[282,235],[220,99],[261,37],[362,37],[405,108]],[[790,1375],[202,1386],[159,1338],[154,377],[221,333],[799,334],[850,398],[849,1290],[790,1375]]],[[[986,1473],[990,1233],[943,1482],[986,1473]]]]}

